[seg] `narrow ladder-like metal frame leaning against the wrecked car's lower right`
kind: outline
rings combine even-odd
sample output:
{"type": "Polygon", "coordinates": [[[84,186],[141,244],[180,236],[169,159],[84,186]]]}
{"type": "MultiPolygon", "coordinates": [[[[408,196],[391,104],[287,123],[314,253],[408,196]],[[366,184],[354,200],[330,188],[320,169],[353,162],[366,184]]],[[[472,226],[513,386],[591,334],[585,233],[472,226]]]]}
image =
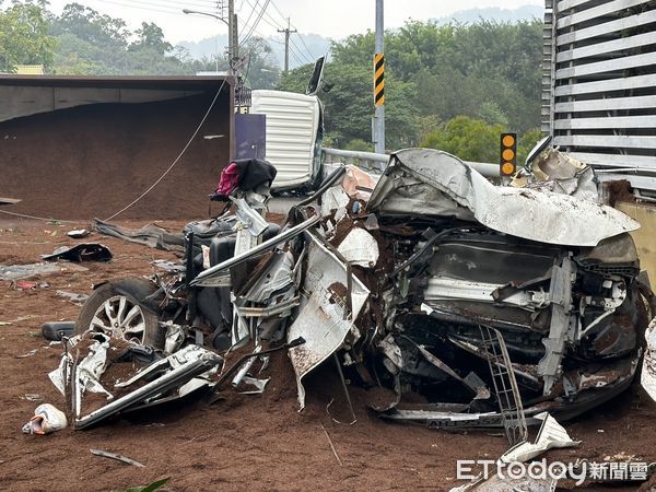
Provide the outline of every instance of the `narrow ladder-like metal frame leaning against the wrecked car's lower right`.
{"type": "Polygon", "coordinates": [[[479,326],[479,329],[488,355],[488,364],[490,365],[503,426],[511,446],[514,446],[526,441],[528,431],[511,358],[503,336],[499,330],[482,325],[479,326]]]}

